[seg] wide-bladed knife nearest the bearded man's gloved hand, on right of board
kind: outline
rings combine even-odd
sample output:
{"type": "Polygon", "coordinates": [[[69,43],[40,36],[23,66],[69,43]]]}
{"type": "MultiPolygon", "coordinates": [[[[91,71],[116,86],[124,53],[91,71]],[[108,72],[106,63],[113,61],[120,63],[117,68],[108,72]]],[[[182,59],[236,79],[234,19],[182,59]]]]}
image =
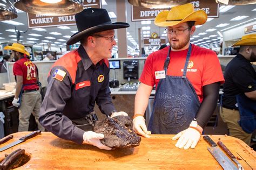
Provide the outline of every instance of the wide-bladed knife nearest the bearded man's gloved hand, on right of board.
{"type": "Polygon", "coordinates": [[[204,136],[204,140],[211,146],[207,147],[207,150],[213,155],[213,157],[218,161],[221,167],[226,169],[238,169],[233,162],[228,159],[228,157],[223,153],[217,146],[217,144],[209,137],[204,136]]]}

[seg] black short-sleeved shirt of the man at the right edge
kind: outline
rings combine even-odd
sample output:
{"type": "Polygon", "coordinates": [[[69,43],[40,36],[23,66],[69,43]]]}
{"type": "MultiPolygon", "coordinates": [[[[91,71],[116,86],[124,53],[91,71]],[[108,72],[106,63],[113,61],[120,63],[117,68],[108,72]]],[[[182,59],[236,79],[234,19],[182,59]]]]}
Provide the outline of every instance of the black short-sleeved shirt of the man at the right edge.
{"type": "Polygon", "coordinates": [[[238,109],[236,95],[256,90],[256,74],[250,61],[238,54],[225,68],[223,107],[238,109]]]}

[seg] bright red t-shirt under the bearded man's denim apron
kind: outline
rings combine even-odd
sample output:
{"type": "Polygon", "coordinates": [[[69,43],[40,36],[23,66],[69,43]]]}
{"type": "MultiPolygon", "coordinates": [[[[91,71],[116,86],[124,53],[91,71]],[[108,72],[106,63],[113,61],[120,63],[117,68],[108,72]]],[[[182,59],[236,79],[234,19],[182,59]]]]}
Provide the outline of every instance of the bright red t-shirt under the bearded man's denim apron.
{"type": "MultiPolygon", "coordinates": [[[[170,46],[165,47],[164,49],[151,53],[147,57],[142,75],[139,78],[140,82],[152,87],[156,84],[157,88],[160,79],[156,79],[155,72],[164,70],[164,61],[169,48],[170,46]]],[[[188,49],[171,51],[167,75],[183,75],[187,51],[188,49]]],[[[203,101],[203,86],[215,82],[224,83],[224,77],[217,55],[210,49],[201,48],[193,44],[186,77],[196,90],[200,102],[203,101]]]]}

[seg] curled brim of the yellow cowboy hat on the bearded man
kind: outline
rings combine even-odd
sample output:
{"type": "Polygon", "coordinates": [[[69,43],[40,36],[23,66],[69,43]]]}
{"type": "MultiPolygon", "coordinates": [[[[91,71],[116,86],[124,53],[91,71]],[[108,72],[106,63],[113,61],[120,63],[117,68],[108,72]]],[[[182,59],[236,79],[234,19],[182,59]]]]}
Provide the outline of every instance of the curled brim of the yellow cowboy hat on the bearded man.
{"type": "Polygon", "coordinates": [[[154,19],[154,24],[160,27],[174,26],[185,22],[194,21],[194,25],[202,25],[207,20],[207,14],[203,10],[198,10],[192,12],[190,15],[186,16],[183,20],[180,21],[170,21],[167,22],[166,18],[169,11],[161,11],[156,19],[154,19]]]}

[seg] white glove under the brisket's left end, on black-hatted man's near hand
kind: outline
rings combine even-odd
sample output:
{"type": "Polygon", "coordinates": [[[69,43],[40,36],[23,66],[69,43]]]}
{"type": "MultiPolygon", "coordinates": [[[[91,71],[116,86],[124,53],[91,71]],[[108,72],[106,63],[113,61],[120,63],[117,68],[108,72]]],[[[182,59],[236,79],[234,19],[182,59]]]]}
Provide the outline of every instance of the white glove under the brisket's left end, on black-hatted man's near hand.
{"type": "Polygon", "coordinates": [[[104,134],[95,133],[93,131],[86,131],[84,132],[83,138],[84,138],[84,144],[93,145],[102,150],[112,150],[111,147],[107,147],[100,142],[99,139],[103,139],[104,134]]]}

